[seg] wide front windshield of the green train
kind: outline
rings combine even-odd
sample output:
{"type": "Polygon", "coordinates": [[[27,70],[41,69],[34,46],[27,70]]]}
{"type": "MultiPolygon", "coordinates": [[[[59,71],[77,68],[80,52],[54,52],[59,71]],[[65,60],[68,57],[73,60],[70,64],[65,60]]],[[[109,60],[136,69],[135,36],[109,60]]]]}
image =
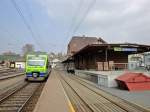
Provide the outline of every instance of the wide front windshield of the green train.
{"type": "Polygon", "coordinates": [[[45,60],[28,60],[28,66],[44,66],[45,60]]]}

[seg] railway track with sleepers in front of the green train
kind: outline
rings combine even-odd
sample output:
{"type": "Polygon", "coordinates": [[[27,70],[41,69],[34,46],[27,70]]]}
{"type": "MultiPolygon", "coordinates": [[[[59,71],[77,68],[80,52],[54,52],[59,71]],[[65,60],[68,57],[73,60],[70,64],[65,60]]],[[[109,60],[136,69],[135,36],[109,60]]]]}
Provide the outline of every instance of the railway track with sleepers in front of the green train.
{"type": "Polygon", "coordinates": [[[24,82],[0,99],[0,112],[21,112],[44,83],[24,82]]]}

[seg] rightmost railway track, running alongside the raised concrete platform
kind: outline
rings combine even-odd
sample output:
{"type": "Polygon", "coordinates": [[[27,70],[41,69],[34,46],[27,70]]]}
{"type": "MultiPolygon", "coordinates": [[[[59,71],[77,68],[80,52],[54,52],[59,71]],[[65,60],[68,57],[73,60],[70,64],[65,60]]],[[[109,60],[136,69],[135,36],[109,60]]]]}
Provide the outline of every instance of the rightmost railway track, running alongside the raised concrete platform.
{"type": "Polygon", "coordinates": [[[97,88],[95,85],[89,83],[88,81],[86,80],[83,80],[79,77],[72,77],[74,80],[76,80],[78,83],[82,84],[83,86],[87,87],[88,89],[92,90],[93,92],[95,92],[96,94],[108,99],[109,101],[111,101],[112,103],[118,105],[119,107],[121,108],[125,108],[126,111],[129,111],[129,112],[150,112],[149,109],[147,108],[144,108],[140,105],[137,105],[137,104],[134,104],[134,103],[131,103],[129,101],[126,101],[124,99],[121,99],[117,96],[114,96],[114,95],[111,95],[110,93],[104,91],[104,90],[101,90],[99,88],[97,88]]]}

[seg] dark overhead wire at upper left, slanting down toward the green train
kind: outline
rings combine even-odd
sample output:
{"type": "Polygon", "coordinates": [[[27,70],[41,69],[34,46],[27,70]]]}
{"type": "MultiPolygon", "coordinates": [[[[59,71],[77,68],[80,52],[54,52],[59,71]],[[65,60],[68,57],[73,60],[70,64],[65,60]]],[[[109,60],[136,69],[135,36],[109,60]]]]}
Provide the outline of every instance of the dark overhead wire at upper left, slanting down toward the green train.
{"type": "Polygon", "coordinates": [[[19,6],[17,5],[15,0],[11,0],[11,3],[13,4],[13,6],[15,7],[16,11],[18,12],[19,16],[22,18],[23,23],[25,24],[26,28],[28,29],[28,31],[31,34],[31,37],[34,39],[35,43],[37,44],[37,46],[40,48],[41,50],[41,46],[40,43],[36,40],[36,37],[32,31],[31,26],[28,24],[26,18],[24,17],[24,15],[22,14],[22,11],[20,10],[19,6]]]}

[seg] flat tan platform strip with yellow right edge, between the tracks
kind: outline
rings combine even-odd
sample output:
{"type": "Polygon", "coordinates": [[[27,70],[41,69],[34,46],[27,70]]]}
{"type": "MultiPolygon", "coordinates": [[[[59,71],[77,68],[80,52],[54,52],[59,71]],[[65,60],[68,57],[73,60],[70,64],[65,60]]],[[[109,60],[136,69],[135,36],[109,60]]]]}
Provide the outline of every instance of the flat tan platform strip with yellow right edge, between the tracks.
{"type": "Polygon", "coordinates": [[[74,112],[55,70],[52,70],[34,112],[74,112]]]}

